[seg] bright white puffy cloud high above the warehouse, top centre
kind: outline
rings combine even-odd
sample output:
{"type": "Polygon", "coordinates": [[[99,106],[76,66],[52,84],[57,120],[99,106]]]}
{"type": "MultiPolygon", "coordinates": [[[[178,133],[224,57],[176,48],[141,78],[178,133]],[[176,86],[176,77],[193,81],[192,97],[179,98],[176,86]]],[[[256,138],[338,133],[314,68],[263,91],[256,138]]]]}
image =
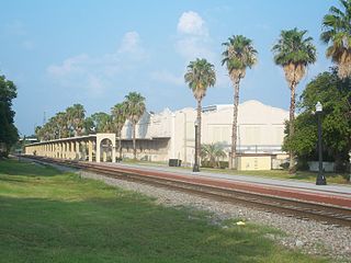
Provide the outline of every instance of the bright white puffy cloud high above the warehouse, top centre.
{"type": "Polygon", "coordinates": [[[193,11],[182,13],[177,28],[181,34],[207,35],[204,20],[193,11]]]}

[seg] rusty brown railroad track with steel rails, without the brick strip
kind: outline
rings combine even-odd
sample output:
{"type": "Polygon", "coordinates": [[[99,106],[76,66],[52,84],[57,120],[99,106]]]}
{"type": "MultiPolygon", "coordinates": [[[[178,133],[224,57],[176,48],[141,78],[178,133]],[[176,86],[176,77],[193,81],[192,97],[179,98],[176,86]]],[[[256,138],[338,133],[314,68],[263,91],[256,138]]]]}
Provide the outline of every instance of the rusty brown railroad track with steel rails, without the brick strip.
{"type": "Polygon", "coordinates": [[[242,204],[256,207],[264,211],[280,213],[288,217],[296,217],[303,220],[318,220],[324,224],[335,226],[351,227],[351,209],[347,207],[332,206],[327,204],[316,204],[301,199],[291,199],[273,195],[260,194],[242,190],[219,187],[211,184],[194,183],[182,176],[169,174],[161,176],[160,172],[143,172],[140,169],[129,169],[120,167],[107,167],[95,163],[67,161],[43,157],[31,157],[36,161],[50,162],[61,165],[70,165],[88,172],[103,174],[110,178],[117,178],[132,182],[151,184],[158,187],[182,191],[196,194],[222,202],[242,204]]]}

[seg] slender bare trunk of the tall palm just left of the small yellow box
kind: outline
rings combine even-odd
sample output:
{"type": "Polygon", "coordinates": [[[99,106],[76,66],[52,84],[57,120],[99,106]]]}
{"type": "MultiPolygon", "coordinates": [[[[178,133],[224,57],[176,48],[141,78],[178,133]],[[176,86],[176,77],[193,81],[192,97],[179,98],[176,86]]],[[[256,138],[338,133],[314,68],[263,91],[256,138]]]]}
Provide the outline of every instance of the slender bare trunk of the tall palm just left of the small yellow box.
{"type": "Polygon", "coordinates": [[[237,126],[238,126],[238,110],[239,110],[239,84],[240,84],[240,78],[238,78],[234,82],[231,150],[229,153],[229,169],[236,169],[237,126]]]}

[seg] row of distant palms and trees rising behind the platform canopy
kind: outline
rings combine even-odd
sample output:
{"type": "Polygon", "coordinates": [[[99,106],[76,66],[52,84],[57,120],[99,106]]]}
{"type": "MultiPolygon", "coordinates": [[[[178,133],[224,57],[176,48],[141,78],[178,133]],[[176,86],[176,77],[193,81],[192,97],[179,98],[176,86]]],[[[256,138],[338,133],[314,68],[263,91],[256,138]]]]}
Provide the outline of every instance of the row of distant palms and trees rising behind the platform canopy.
{"type": "Polygon", "coordinates": [[[84,106],[73,104],[50,117],[43,126],[35,127],[35,135],[41,141],[45,141],[95,133],[115,133],[118,138],[117,151],[121,157],[122,128],[128,119],[133,127],[133,153],[136,158],[136,124],[145,111],[145,98],[137,92],[129,92],[123,102],[111,107],[110,114],[98,112],[86,117],[84,106]]]}

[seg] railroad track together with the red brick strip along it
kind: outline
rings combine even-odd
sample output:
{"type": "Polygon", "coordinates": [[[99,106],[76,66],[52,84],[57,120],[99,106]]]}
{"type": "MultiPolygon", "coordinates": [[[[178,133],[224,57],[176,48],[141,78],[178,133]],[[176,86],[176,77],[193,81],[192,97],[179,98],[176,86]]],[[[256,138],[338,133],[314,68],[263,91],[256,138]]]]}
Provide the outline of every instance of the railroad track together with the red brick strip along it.
{"type": "Polygon", "coordinates": [[[299,188],[286,191],[270,185],[246,184],[152,169],[143,170],[43,157],[26,156],[26,158],[39,162],[69,165],[110,178],[182,191],[222,202],[253,206],[264,211],[279,213],[302,220],[318,220],[328,225],[351,227],[351,196],[325,195],[299,188]]]}

